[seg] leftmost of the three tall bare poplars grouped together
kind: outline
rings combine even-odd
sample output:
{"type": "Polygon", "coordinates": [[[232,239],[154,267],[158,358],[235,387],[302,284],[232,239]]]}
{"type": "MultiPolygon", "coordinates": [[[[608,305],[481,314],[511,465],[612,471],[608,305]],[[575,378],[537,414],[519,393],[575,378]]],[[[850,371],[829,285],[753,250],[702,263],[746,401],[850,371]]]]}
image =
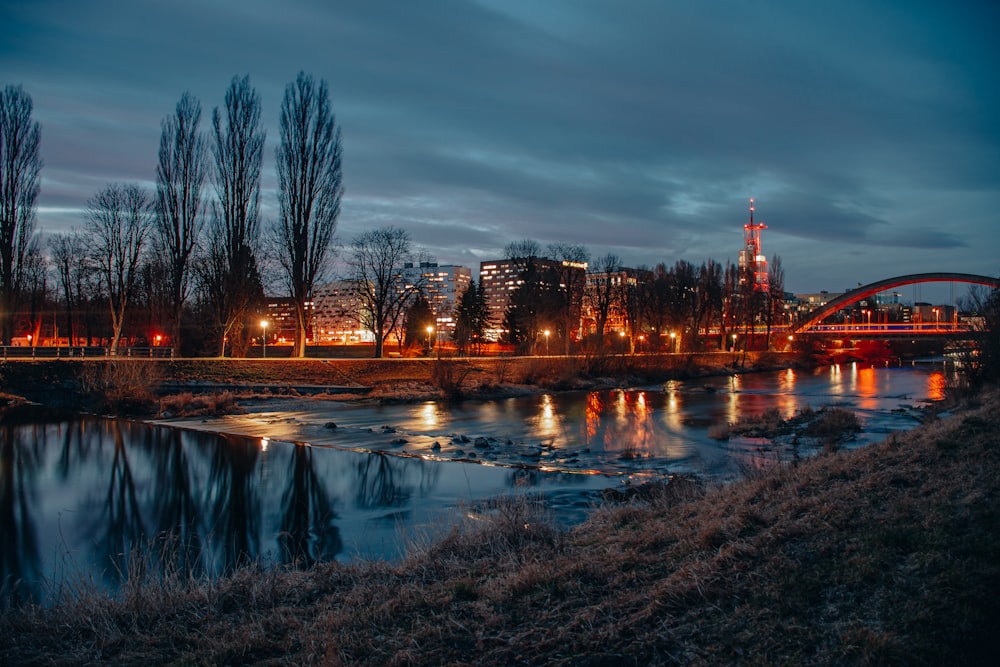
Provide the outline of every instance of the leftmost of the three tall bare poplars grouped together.
{"type": "Polygon", "coordinates": [[[202,187],[206,143],[198,125],[201,103],[184,93],[173,116],[163,120],[156,166],[156,231],[167,269],[171,345],[180,353],[181,316],[188,297],[190,263],[204,226],[202,187]]]}

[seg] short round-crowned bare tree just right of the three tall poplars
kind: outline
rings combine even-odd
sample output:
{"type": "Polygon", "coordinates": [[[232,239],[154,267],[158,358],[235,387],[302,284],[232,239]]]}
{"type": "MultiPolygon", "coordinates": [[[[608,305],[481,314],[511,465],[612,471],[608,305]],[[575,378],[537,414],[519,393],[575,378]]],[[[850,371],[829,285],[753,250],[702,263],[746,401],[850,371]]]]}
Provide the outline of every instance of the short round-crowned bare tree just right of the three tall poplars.
{"type": "Polygon", "coordinates": [[[352,281],[361,306],[362,326],[375,336],[375,358],[382,356],[385,340],[401,322],[406,306],[423,288],[423,278],[403,277],[410,261],[410,236],[396,227],[361,234],[351,242],[352,281]]]}

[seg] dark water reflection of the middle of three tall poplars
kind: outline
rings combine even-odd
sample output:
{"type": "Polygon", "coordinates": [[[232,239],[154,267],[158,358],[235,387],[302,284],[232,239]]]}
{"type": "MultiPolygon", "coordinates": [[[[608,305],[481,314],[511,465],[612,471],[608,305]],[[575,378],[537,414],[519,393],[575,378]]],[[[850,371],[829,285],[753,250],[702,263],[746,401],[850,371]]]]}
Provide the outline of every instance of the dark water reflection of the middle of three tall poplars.
{"type": "Polygon", "coordinates": [[[206,485],[213,495],[206,504],[216,520],[212,537],[222,540],[225,572],[260,554],[260,498],[253,481],[257,456],[254,441],[219,434],[206,485]]]}

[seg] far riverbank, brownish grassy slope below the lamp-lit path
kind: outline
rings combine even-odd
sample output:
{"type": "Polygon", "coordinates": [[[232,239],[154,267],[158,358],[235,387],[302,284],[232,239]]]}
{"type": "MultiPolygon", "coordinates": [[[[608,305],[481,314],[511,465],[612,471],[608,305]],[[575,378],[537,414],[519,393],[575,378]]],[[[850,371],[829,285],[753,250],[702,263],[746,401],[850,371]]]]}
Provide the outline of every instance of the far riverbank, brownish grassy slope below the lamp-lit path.
{"type": "Polygon", "coordinates": [[[786,368],[778,352],[442,359],[19,359],[0,362],[0,390],[56,407],[155,414],[184,393],[310,395],[328,400],[495,398],[538,390],[626,387],[786,368]]]}

